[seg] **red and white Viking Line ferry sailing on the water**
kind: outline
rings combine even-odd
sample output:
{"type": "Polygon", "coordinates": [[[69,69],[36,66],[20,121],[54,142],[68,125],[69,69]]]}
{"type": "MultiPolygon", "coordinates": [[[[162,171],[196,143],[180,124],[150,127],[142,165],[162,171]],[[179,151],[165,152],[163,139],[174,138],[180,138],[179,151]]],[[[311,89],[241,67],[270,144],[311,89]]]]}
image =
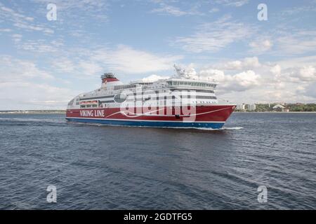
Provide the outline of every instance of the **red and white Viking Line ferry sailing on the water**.
{"type": "Polygon", "coordinates": [[[100,88],[70,100],[66,119],[105,125],[221,129],[235,104],[218,103],[218,83],[190,78],[185,70],[175,69],[171,78],[127,85],[113,73],[105,73],[100,88]]]}

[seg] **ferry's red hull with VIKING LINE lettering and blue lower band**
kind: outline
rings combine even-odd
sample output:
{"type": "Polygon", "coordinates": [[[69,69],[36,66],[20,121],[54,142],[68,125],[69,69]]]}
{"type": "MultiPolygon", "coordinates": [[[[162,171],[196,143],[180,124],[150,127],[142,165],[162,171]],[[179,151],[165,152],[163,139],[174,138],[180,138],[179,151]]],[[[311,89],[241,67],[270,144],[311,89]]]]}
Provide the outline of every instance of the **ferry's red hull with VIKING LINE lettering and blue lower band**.
{"type": "Polygon", "coordinates": [[[68,109],[66,119],[81,123],[127,125],[143,127],[206,127],[220,129],[235,110],[235,105],[207,105],[182,107],[68,109]],[[190,111],[190,113],[187,113],[190,111]]]}

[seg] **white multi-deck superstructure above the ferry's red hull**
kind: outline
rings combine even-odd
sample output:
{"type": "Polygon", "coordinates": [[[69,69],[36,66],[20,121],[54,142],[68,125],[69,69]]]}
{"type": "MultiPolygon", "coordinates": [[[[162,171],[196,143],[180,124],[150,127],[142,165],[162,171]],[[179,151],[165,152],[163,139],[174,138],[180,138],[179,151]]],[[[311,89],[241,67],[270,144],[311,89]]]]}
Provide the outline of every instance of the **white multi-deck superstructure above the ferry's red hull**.
{"type": "MultiPolygon", "coordinates": [[[[175,66],[176,67],[176,66],[175,66]]],[[[117,108],[121,103],[134,106],[180,106],[218,104],[217,83],[189,78],[176,67],[177,75],[154,82],[133,81],[124,85],[112,73],[105,73],[100,88],[80,94],[68,109],[117,108]]]]}

